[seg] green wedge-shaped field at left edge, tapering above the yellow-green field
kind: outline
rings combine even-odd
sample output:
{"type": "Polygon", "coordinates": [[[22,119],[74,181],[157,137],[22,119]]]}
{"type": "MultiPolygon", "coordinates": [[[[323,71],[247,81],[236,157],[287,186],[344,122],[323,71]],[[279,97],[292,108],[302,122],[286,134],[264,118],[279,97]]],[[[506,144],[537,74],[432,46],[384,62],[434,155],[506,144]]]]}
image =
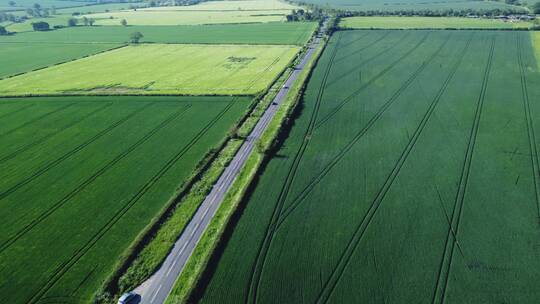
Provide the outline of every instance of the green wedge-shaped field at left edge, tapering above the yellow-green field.
{"type": "Polygon", "coordinates": [[[0,78],[82,58],[119,44],[1,43],[0,78]]]}

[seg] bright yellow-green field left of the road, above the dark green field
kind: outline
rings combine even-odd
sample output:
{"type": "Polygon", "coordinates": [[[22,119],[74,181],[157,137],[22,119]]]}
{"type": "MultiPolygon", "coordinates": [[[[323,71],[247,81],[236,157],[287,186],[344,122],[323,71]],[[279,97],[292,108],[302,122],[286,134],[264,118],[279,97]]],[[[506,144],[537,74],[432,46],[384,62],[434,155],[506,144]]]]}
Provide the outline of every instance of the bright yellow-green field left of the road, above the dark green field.
{"type": "Polygon", "coordinates": [[[0,95],[251,95],[266,89],[298,50],[276,45],[128,46],[1,80],[0,95]]]}

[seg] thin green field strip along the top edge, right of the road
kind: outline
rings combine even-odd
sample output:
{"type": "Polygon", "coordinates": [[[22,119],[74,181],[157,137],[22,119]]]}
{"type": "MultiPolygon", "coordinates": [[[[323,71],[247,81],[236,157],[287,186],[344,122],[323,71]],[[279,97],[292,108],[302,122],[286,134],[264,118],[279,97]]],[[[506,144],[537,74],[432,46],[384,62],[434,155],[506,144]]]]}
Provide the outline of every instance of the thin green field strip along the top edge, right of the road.
{"type": "Polygon", "coordinates": [[[440,11],[440,10],[491,10],[511,8],[524,11],[522,7],[505,4],[504,1],[483,0],[308,0],[321,6],[356,11],[440,11]]]}

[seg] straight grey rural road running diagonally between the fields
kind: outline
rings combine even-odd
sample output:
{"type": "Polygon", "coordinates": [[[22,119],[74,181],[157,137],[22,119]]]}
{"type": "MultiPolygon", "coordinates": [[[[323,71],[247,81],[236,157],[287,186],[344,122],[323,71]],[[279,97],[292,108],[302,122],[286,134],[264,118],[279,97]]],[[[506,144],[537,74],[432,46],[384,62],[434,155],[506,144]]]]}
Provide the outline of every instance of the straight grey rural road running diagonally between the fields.
{"type": "Polygon", "coordinates": [[[308,50],[304,57],[295,67],[284,86],[278,92],[274,101],[266,109],[263,116],[259,119],[257,125],[242,144],[229,166],[225,169],[217,183],[214,185],[206,199],[199,206],[197,212],[185,228],[180,238],[174,244],[173,249],[167,256],[161,268],[150,279],[137,287],[134,292],[141,296],[143,304],[161,304],[167,299],[171,292],[176,279],[184,269],[184,266],[195,250],[206,227],[214,217],[216,210],[219,208],[225,194],[232,186],[234,180],[238,176],[240,170],[245,165],[249,155],[253,151],[257,140],[264,133],[272,118],[276,114],[277,109],[285,100],[289,87],[294,84],[299,74],[304,70],[315,52],[315,48],[320,43],[320,37],[326,30],[326,22],[319,29],[319,33],[308,45],[308,50]]]}

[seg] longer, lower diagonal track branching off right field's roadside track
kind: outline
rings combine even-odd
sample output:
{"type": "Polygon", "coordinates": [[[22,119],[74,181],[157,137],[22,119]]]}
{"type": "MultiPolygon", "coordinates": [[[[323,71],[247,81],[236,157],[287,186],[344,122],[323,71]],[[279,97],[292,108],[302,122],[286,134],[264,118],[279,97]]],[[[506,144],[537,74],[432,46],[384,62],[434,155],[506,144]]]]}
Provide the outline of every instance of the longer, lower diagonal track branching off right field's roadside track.
{"type": "Polygon", "coordinates": [[[276,225],[276,230],[278,230],[283,222],[288,218],[288,216],[304,201],[311,191],[318,185],[324,177],[336,166],[343,157],[352,149],[352,147],[362,138],[364,135],[371,129],[371,127],[379,121],[383,114],[390,108],[390,106],[401,96],[401,94],[407,90],[407,88],[413,83],[414,80],[418,78],[423,70],[431,63],[435,57],[442,51],[446,46],[448,41],[450,41],[451,34],[448,35],[447,39],[439,46],[439,48],[431,54],[431,56],[424,61],[414,73],[407,79],[399,89],[397,89],[394,94],[378,109],[377,113],[371,117],[371,119],[364,125],[364,127],[359,130],[355,136],[341,149],[334,158],[321,170],[321,172],[313,178],[307,185],[302,189],[302,191],[292,200],[290,206],[285,208],[283,211],[283,216],[276,225]]]}

